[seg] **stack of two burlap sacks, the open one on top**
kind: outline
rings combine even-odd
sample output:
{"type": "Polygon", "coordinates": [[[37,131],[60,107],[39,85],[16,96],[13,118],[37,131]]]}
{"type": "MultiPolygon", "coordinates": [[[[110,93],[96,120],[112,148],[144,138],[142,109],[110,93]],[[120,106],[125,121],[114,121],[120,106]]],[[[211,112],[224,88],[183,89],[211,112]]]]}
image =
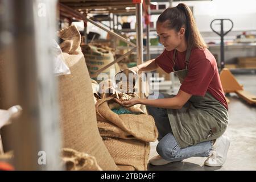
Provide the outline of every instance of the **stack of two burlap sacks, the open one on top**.
{"type": "Polygon", "coordinates": [[[149,142],[158,137],[154,118],[146,114],[115,114],[110,109],[112,101],[108,97],[96,103],[98,129],[105,146],[119,168],[147,170],[149,142]]]}

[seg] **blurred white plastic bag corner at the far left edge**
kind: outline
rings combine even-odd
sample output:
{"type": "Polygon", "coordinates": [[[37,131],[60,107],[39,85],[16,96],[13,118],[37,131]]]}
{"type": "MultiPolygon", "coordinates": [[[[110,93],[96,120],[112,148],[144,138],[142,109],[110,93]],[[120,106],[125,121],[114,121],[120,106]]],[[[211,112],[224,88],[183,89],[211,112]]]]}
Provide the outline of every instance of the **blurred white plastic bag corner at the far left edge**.
{"type": "Polygon", "coordinates": [[[19,105],[10,107],[8,110],[0,110],[0,129],[1,127],[7,125],[11,117],[19,113],[22,110],[22,107],[19,105]]]}

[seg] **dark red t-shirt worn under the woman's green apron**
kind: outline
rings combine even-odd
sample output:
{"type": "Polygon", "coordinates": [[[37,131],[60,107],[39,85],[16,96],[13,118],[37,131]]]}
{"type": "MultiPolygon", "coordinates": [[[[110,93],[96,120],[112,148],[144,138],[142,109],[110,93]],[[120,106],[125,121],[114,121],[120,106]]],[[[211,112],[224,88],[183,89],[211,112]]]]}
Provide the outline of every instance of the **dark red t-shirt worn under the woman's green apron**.
{"type": "MultiPolygon", "coordinates": [[[[185,53],[177,51],[175,67],[172,57],[174,50],[164,50],[161,55],[156,57],[156,64],[159,65],[165,72],[172,72],[172,67],[175,71],[185,69],[185,53]]],[[[204,96],[208,91],[216,100],[228,109],[228,104],[225,100],[225,95],[222,89],[220,76],[216,60],[208,49],[194,48],[191,51],[188,64],[188,75],[180,86],[180,89],[186,93],[204,96]]]]}

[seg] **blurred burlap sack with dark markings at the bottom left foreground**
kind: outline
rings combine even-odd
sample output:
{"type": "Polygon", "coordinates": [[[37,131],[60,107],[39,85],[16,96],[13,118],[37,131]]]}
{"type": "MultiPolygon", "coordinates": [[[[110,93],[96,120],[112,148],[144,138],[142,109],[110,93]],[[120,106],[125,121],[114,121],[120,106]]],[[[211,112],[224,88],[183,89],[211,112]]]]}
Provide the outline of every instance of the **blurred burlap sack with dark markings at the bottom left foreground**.
{"type": "Polygon", "coordinates": [[[68,171],[102,171],[94,156],[71,148],[61,150],[61,159],[68,171]]]}

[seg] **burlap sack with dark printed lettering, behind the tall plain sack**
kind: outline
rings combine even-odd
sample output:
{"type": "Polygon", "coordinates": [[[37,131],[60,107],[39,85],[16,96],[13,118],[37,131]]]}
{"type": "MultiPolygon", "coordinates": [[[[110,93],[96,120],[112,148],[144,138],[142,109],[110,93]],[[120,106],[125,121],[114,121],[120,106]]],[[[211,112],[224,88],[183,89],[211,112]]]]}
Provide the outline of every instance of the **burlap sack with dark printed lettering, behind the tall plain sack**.
{"type": "MultiPolygon", "coordinates": [[[[114,61],[113,53],[101,47],[96,47],[90,44],[82,45],[82,53],[84,53],[86,65],[88,67],[90,76],[92,77],[93,73],[96,73],[99,69],[105,67],[105,65],[114,61]]],[[[105,69],[101,73],[105,73],[108,78],[110,77],[110,70],[113,70],[115,74],[115,65],[113,64],[109,68],[105,69]]],[[[92,77],[93,80],[97,80],[97,77],[92,77]]]]}

